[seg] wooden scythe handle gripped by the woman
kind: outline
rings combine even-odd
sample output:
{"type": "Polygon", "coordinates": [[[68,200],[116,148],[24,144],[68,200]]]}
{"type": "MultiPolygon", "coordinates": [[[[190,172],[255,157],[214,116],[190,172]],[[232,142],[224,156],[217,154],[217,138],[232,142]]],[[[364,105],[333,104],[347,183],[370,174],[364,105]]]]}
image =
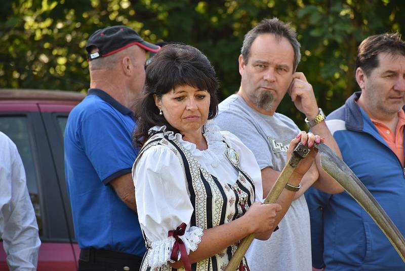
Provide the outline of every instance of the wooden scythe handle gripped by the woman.
{"type": "MultiPolygon", "coordinates": [[[[313,148],[317,149],[317,144],[314,144],[313,148]]],[[[305,158],[305,156],[307,156],[309,151],[310,149],[303,144],[299,143],[297,145],[293,154],[291,155],[289,162],[284,166],[273,187],[265,198],[263,202],[264,204],[271,204],[276,202],[277,198],[281,194],[282,189],[284,189],[291,175],[295,171],[298,163],[302,158],[305,158]]],[[[245,253],[248,251],[248,248],[252,244],[254,238],[255,234],[252,233],[242,239],[242,241],[240,241],[240,244],[238,245],[235,253],[229,261],[225,271],[235,271],[237,269],[240,261],[245,256],[245,253]]]]}

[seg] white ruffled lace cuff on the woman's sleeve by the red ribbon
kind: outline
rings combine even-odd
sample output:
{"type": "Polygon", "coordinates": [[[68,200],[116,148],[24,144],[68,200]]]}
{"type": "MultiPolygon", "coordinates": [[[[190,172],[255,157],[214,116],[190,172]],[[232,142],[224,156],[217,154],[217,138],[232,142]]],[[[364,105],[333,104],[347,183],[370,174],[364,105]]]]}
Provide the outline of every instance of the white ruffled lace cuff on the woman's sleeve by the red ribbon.
{"type": "MultiPolygon", "coordinates": [[[[201,242],[201,236],[203,236],[203,234],[202,228],[193,226],[190,227],[184,235],[179,236],[186,247],[187,255],[190,254],[190,250],[195,251],[197,249],[197,245],[201,242]]],[[[172,248],[175,242],[176,240],[173,236],[153,242],[151,244],[152,249],[149,252],[149,266],[154,268],[164,265],[168,261],[174,262],[170,259],[170,255],[172,254],[172,248]]],[[[178,260],[180,256],[181,254],[179,252],[178,260]]]]}

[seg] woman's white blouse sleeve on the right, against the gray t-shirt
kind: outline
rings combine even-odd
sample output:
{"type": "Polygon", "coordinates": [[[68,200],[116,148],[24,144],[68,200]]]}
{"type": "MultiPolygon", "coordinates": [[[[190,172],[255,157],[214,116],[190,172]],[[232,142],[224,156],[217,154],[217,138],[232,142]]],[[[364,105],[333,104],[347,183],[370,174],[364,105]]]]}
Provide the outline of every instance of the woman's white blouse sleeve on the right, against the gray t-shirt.
{"type": "Polygon", "coordinates": [[[246,171],[255,183],[255,201],[263,201],[262,174],[253,152],[243,144],[238,137],[229,131],[221,131],[226,141],[229,142],[239,154],[240,167],[246,171]]]}

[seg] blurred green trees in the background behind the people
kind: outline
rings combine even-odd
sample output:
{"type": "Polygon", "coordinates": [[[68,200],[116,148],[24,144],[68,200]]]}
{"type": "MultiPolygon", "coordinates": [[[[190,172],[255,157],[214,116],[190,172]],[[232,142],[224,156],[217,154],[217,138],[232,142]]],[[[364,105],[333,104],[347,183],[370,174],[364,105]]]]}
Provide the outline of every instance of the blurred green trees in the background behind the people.
{"type": "MultiPolygon", "coordinates": [[[[263,18],[289,21],[298,32],[298,70],[330,113],[357,85],[353,67],[367,36],[403,32],[402,0],[5,0],[0,7],[0,88],[86,92],[85,45],[110,25],[134,28],[146,41],[178,41],[203,51],[221,82],[220,99],[238,90],[237,57],[245,33],[263,18]]],[[[280,113],[303,124],[289,97],[280,113]]]]}

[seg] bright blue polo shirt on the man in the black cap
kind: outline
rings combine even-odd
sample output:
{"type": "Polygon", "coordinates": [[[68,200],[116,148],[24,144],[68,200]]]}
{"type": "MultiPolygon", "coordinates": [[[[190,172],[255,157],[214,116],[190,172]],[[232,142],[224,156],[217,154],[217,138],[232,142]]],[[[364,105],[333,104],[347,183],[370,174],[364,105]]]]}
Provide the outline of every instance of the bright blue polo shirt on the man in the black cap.
{"type": "Polygon", "coordinates": [[[79,247],[142,257],[145,243],[138,216],[109,182],[131,173],[133,113],[101,89],[69,114],[65,130],[65,175],[79,247]]]}

